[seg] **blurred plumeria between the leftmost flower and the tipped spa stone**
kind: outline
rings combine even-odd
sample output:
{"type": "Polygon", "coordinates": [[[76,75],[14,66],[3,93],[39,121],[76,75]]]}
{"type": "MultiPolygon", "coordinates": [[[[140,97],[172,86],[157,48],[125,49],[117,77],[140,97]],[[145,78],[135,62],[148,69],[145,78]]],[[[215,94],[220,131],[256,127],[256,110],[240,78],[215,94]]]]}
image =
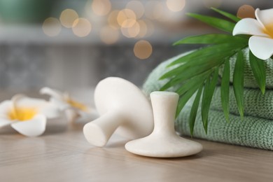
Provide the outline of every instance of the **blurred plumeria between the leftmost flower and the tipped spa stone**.
{"type": "Polygon", "coordinates": [[[40,93],[50,95],[50,102],[58,106],[61,111],[65,111],[66,117],[71,123],[76,121],[87,122],[97,116],[97,112],[94,109],[72,99],[66,92],[62,93],[59,90],[43,87],[40,93]]]}

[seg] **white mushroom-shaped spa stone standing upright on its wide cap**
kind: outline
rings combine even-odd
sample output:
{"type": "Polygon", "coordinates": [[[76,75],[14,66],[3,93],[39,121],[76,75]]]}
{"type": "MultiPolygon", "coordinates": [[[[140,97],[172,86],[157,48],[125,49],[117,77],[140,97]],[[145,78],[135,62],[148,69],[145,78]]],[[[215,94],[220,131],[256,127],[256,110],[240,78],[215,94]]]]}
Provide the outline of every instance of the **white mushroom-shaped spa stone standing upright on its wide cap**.
{"type": "Polygon", "coordinates": [[[155,128],[148,136],[129,141],[127,151],[155,158],[176,158],[202,151],[202,145],[183,139],[174,130],[174,116],[179,94],[174,92],[152,92],[151,101],[155,128]]]}

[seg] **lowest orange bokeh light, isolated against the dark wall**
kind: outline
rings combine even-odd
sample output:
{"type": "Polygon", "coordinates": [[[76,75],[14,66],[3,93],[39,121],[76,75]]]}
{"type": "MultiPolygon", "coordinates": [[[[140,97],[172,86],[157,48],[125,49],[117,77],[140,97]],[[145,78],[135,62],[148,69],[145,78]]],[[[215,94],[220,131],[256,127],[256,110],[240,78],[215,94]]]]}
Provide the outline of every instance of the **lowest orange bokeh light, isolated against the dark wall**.
{"type": "Polygon", "coordinates": [[[138,41],[134,44],[134,55],[139,59],[147,59],[151,56],[153,47],[148,41],[138,41]]]}

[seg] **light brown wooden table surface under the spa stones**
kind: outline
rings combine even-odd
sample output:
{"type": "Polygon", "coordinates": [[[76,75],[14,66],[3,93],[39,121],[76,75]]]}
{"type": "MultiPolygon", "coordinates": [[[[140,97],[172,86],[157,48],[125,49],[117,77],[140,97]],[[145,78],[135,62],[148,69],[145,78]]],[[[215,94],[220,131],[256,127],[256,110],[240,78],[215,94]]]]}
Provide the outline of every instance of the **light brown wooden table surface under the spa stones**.
{"type": "Polygon", "coordinates": [[[199,141],[186,158],[146,158],[114,135],[104,148],[87,143],[83,125],[49,125],[41,137],[0,132],[0,181],[273,181],[273,152],[199,141]]]}

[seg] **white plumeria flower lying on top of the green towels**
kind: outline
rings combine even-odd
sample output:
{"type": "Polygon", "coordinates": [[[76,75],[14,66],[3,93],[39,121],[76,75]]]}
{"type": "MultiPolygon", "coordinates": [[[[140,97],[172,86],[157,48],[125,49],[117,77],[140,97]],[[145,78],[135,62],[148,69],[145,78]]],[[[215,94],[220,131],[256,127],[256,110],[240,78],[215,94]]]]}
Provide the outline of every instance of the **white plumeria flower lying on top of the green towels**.
{"type": "Polygon", "coordinates": [[[248,46],[260,59],[268,59],[273,55],[273,8],[267,10],[255,10],[255,18],[244,18],[237,22],[233,29],[233,35],[248,34],[248,46]]]}

